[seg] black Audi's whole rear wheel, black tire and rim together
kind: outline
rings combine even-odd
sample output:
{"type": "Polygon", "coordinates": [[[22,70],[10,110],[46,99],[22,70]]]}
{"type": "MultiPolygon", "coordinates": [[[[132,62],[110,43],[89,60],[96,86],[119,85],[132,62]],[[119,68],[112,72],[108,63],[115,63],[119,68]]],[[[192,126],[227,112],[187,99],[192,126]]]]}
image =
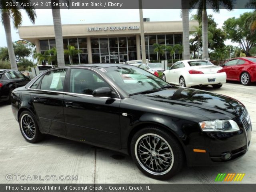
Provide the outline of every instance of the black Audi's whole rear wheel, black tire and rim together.
{"type": "Polygon", "coordinates": [[[19,118],[20,132],[27,142],[36,143],[43,138],[38,123],[32,113],[23,111],[19,118]]]}

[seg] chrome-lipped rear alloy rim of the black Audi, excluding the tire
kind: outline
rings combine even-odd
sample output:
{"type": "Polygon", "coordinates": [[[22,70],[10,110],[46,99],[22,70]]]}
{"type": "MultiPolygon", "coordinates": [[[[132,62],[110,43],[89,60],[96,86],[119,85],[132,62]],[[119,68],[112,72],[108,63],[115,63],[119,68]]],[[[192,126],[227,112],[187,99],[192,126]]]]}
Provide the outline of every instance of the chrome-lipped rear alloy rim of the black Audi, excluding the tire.
{"type": "Polygon", "coordinates": [[[28,114],[24,114],[20,119],[20,126],[22,134],[28,139],[32,140],[35,136],[36,125],[32,117],[28,114]]]}

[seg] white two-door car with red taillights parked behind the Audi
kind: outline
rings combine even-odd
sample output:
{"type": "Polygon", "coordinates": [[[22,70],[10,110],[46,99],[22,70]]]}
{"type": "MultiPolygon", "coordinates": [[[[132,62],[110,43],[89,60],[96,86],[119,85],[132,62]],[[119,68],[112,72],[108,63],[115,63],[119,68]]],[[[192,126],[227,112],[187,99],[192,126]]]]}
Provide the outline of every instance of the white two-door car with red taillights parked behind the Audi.
{"type": "Polygon", "coordinates": [[[226,83],[226,73],[207,60],[182,60],[165,70],[162,79],[184,87],[212,85],[221,88],[226,83]]]}

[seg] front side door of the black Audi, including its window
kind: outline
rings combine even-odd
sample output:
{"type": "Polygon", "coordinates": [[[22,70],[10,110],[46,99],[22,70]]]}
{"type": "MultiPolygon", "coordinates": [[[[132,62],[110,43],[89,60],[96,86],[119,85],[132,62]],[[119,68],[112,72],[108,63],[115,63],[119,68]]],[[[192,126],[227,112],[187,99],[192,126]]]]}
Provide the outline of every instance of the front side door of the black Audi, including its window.
{"type": "Polygon", "coordinates": [[[64,95],[67,137],[100,146],[120,148],[120,99],[92,96],[92,91],[111,86],[90,69],[70,69],[64,95]]]}

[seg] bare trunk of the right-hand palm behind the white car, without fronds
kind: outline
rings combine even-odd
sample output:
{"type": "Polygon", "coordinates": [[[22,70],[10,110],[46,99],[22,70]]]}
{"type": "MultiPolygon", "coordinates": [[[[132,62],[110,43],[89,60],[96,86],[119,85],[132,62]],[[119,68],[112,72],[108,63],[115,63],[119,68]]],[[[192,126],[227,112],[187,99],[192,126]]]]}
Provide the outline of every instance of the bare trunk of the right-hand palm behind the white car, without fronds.
{"type": "Polygon", "coordinates": [[[202,36],[203,36],[203,56],[202,59],[208,58],[208,18],[206,9],[202,10],[202,36]]]}

